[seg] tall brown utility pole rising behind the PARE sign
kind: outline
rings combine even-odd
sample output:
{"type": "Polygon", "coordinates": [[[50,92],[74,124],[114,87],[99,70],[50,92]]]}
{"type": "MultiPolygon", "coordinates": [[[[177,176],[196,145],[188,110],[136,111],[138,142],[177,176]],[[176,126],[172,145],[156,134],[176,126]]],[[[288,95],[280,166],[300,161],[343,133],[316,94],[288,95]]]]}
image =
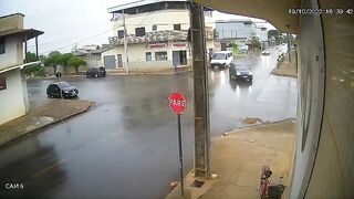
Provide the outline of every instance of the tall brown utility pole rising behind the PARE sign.
{"type": "Polygon", "coordinates": [[[204,7],[190,2],[190,32],[192,48],[194,101],[195,101],[195,165],[196,177],[210,176],[210,124],[208,67],[206,62],[206,41],[204,7]]]}

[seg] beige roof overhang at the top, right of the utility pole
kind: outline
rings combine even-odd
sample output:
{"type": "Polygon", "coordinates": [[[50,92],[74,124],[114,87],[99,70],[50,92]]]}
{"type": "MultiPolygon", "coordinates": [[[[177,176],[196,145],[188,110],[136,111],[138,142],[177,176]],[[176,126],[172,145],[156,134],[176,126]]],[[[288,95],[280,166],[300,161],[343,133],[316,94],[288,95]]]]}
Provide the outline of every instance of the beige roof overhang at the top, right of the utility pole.
{"type": "Polygon", "coordinates": [[[300,8],[300,0],[192,0],[204,7],[230,14],[264,19],[280,32],[296,33],[298,15],[289,9],[300,8]]]}

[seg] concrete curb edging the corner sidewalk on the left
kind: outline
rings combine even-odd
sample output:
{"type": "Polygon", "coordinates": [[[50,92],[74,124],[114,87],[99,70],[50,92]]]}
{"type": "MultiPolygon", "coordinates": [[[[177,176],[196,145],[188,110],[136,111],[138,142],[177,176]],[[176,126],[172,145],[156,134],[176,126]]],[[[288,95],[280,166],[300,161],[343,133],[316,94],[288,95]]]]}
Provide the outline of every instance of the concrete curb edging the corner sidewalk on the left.
{"type": "Polygon", "coordinates": [[[80,111],[76,111],[76,112],[74,112],[74,113],[72,113],[72,114],[70,114],[70,115],[65,115],[64,117],[56,118],[56,119],[54,119],[54,121],[52,121],[52,122],[50,122],[50,123],[48,123],[48,124],[39,125],[39,126],[37,126],[35,128],[33,128],[33,129],[24,130],[22,134],[17,135],[17,136],[8,139],[8,140],[4,140],[4,142],[2,142],[2,143],[0,143],[0,147],[6,146],[6,145],[8,145],[8,144],[11,144],[12,142],[15,142],[15,140],[18,140],[18,139],[20,139],[20,138],[22,138],[22,137],[24,137],[24,136],[31,136],[32,134],[37,133],[37,132],[40,130],[40,129],[43,129],[43,128],[45,128],[45,127],[55,125],[56,123],[60,123],[60,122],[62,122],[62,121],[65,121],[65,119],[67,119],[67,118],[70,118],[70,117],[73,117],[73,116],[75,116],[75,115],[82,114],[82,113],[86,112],[93,104],[94,104],[94,102],[90,102],[90,104],[88,104],[86,107],[84,107],[84,108],[82,108],[82,109],[80,109],[80,111]]]}

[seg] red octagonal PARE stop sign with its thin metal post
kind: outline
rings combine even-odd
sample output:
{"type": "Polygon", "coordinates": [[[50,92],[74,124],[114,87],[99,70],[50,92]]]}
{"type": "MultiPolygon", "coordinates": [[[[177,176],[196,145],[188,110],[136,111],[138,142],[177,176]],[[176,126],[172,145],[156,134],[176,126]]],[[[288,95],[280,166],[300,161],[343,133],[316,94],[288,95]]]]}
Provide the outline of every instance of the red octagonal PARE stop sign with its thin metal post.
{"type": "Polygon", "coordinates": [[[181,127],[180,127],[180,115],[186,111],[187,100],[181,93],[173,92],[168,96],[169,107],[174,113],[177,114],[177,125],[178,125],[178,148],[179,148],[179,165],[180,165],[180,195],[185,195],[185,184],[184,184],[184,158],[181,148],[181,127]]]}

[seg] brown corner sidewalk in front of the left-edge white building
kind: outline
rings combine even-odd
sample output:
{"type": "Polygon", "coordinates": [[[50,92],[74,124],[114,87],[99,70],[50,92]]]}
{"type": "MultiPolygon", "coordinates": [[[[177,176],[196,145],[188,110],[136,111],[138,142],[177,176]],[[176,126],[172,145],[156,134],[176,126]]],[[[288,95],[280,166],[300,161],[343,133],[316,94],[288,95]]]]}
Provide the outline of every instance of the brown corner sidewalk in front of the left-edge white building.
{"type": "Polygon", "coordinates": [[[30,113],[0,125],[0,146],[48,125],[61,122],[88,109],[92,102],[51,100],[30,113]]]}

